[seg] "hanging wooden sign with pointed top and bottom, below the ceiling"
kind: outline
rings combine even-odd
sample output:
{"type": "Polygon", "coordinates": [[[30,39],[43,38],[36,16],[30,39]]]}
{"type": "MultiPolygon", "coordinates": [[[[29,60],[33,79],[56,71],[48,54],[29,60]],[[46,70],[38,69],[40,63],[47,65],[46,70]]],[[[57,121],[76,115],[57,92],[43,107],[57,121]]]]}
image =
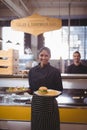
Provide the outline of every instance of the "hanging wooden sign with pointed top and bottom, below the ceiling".
{"type": "Polygon", "coordinates": [[[29,17],[15,19],[11,21],[11,27],[17,31],[23,31],[33,35],[60,29],[62,20],[33,14],[29,17]]]}

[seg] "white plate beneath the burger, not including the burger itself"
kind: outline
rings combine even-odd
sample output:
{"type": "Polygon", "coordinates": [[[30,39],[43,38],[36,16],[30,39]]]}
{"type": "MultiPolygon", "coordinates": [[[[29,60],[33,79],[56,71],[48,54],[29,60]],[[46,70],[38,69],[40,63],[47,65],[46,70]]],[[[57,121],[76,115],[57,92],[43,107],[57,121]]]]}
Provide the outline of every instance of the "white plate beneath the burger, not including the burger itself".
{"type": "Polygon", "coordinates": [[[61,94],[61,91],[53,90],[53,89],[48,89],[48,93],[46,94],[40,94],[38,91],[35,91],[34,93],[39,95],[39,96],[52,96],[52,97],[57,97],[61,94]]]}

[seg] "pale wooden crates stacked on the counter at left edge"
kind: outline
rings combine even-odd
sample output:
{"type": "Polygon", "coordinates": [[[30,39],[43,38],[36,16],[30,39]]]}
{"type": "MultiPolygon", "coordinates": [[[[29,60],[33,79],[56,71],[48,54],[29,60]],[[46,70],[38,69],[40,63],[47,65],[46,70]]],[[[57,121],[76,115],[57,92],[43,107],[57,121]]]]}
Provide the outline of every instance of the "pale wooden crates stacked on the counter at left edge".
{"type": "Polygon", "coordinates": [[[9,49],[0,51],[0,74],[17,74],[19,63],[18,50],[9,49]]]}

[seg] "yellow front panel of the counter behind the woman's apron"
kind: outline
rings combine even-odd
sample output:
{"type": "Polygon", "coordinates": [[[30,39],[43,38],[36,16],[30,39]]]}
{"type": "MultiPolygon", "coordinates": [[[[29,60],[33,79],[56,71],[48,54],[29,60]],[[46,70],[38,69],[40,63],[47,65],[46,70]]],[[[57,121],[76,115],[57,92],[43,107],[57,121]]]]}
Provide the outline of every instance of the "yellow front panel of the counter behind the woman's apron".
{"type": "MultiPolygon", "coordinates": [[[[87,124],[87,107],[59,105],[59,112],[61,123],[87,124]]],[[[0,120],[31,121],[31,105],[0,104],[0,120]]]]}

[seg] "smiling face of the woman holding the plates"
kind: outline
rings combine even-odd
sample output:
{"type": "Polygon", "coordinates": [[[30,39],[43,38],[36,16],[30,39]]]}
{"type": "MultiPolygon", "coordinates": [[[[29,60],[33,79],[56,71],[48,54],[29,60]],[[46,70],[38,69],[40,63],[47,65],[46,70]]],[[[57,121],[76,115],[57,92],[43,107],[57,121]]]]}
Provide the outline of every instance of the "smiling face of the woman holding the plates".
{"type": "Polygon", "coordinates": [[[50,54],[46,50],[42,50],[39,54],[39,61],[41,66],[46,65],[49,59],[50,59],[50,54]]]}

